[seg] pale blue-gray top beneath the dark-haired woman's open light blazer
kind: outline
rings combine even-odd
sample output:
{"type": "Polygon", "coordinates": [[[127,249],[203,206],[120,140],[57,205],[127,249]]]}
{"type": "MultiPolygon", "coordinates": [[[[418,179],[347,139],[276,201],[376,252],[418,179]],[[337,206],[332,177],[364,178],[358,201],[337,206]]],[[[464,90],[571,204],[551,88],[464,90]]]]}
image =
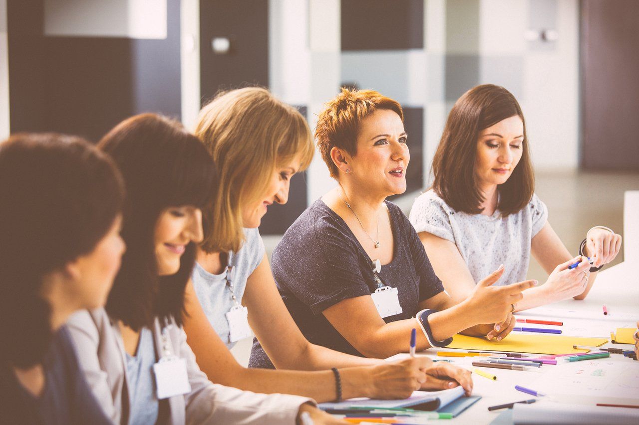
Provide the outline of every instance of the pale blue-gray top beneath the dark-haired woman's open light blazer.
{"type": "Polygon", "coordinates": [[[132,392],[130,425],[155,424],[158,419],[160,405],[153,384],[153,364],[153,334],[148,327],[143,327],[135,356],[127,353],[128,387],[132,392]]]}

